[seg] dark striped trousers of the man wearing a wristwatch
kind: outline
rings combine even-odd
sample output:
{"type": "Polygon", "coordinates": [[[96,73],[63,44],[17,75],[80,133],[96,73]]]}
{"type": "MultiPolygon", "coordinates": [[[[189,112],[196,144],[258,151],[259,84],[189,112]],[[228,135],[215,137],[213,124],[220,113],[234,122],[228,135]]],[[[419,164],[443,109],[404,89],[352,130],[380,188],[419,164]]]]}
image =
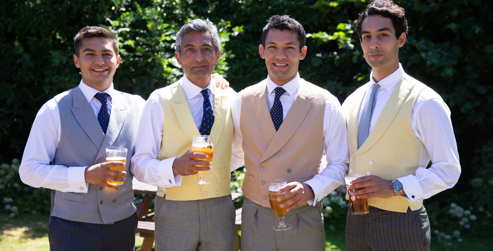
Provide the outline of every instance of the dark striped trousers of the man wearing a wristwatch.
{"type": "Polygon", "coordinates": [[[348,210],[346,248],[352,250],[430,250],[430,221],[425,207],[405,213],[370,207],[367,214],[348,210]]]}

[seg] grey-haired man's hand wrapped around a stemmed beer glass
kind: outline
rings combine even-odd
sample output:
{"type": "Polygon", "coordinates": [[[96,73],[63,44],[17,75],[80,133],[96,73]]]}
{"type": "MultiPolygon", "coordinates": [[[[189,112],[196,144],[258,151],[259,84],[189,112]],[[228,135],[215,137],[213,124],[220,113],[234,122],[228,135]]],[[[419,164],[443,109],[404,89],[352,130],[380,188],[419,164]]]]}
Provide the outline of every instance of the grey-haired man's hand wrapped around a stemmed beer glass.
{"type": "Polygon", "coordinates": [[[207,157],[207,154],[195,153],[188,150],[182,157],[173,162],[173,174],[188,176],[194,175],[198,171],[208,171],[211,169],[212,163],[205,160],[199,160],[207,159],[207,157]]]}

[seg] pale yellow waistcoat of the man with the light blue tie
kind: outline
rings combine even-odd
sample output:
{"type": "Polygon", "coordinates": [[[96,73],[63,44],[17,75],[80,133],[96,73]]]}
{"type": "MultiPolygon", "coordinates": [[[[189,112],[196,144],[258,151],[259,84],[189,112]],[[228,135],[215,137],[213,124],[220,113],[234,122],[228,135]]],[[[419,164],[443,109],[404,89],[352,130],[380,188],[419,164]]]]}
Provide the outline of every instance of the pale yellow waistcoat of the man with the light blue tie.
{"type": "MultiPolygon", "coordinates": [[[[393,180],[415,175],[423,143],[410,127],[410,116],[416,99],[426,86],[404,74],[378,117],[368,139],[358,149],[358,113],[366,85],[358,88],[343,103],[349,144],[349,174],[363,173],[393,180]]],[[[429,160],[428,160],[429,161],[429,160]]],[[[346,195],[346,199],[348,196],[346,195]]],[[[409,202],[401,196],[370,198],[368,204],[388,211],[406,212],[420,209],[422,201],[409,202]]]]}

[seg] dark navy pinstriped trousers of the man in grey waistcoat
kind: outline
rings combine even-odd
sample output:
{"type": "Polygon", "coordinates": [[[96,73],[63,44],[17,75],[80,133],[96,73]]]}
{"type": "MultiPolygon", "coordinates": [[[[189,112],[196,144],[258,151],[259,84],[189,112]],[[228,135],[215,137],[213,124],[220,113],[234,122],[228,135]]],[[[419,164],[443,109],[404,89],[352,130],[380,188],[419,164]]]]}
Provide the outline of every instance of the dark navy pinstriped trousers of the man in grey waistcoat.
{"type": "Polygon", "coordinates": [[[137,214],[113,224],[94,224],[50,216],[51,251],[133,251],[137,214]]]}

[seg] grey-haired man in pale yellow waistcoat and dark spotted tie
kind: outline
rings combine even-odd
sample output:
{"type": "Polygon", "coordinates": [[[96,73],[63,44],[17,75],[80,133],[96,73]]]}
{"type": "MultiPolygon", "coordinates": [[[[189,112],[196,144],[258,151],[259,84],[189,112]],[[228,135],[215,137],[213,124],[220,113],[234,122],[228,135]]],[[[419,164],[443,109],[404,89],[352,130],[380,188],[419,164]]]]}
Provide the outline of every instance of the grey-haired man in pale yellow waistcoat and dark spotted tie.
{"type": "Polygon", "coordinates": [[[158,186],[156,250],[232,250],[230,171],[243,161],[238,158],[241,145],[231,146],[230,99],[235,92],[218,88],[212,77],[221,54],[216,27],[209,20],[188,22],[177,33],[175,49],[185,76],[149,96],[137,131],[132,172],[138,180],[158,186]],[[205,161],[207,155],[190,151],[194,135],[212,137],[212,162],[205,161]],[[211,184],[193,184],[198,171],[208,171],[205,179],[211,184]]]}

